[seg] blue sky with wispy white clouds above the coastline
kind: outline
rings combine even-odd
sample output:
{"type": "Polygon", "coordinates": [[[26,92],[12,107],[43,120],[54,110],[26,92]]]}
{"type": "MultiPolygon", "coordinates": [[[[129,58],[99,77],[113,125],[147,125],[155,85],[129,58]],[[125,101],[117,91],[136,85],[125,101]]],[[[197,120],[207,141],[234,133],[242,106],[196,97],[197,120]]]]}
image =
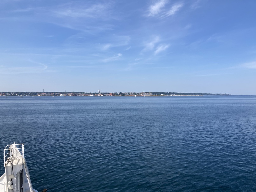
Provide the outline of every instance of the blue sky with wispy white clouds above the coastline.
{"type": "Polygon", "coordinates": [[[255,7],[255,0],[1,0],[0,92],[256,95],[255,7]]]}

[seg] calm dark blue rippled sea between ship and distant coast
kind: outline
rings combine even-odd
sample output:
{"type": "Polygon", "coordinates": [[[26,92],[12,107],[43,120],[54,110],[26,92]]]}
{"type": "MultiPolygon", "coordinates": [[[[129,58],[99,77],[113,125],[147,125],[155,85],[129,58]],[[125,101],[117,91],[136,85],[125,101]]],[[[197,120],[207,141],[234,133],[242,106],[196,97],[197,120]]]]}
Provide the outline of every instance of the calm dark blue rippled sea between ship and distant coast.
{"type": "Polygon", "coordinates": [[[38,191],[256,191],[256,96],[0,97],[13,142],[38,191]]]}

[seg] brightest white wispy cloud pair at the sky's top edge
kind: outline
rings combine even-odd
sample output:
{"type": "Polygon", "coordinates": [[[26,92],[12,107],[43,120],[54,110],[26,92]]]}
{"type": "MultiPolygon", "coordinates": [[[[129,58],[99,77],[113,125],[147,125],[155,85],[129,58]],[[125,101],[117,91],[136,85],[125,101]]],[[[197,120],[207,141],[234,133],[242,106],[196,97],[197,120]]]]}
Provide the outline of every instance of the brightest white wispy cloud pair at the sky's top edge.
{"type": "Polygon", "coordinates": [[[149,17],[168,17],[177,13],[182,7],[182,3],[176,3],[171,6],[171,8],[167,7],[167,0],[160,0],[155,4],[151,5],[148,10],[149,17]],[[167,7],[167,8],[165,8],[167,7]]]}

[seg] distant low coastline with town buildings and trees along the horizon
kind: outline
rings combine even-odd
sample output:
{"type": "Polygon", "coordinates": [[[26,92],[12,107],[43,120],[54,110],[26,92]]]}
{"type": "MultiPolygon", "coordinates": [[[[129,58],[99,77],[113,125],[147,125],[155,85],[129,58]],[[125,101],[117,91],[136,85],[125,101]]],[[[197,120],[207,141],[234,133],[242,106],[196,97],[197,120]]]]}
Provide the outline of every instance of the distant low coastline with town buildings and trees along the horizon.
{"type": "Polygon", "coordinates": [[[0,92],[0,96],[228,96],[228,93],[177,93],[177,92],[0,92]]]}

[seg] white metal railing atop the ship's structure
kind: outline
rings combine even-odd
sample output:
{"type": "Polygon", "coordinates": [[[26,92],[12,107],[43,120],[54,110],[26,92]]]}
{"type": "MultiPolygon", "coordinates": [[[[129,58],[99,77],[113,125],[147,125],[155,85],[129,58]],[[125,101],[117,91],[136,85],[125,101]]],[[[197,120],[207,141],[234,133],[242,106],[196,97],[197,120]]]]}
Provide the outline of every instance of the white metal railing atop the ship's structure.
{"type": "Polygon", "coordinates": [[[24,159],[24,144],[12,144],[12,145],[7,145],[4,148],[4,166],[7,164],[7,160],[14,161],[15,159],[21,159],[22,158],[22,163],[24,159]]]}

